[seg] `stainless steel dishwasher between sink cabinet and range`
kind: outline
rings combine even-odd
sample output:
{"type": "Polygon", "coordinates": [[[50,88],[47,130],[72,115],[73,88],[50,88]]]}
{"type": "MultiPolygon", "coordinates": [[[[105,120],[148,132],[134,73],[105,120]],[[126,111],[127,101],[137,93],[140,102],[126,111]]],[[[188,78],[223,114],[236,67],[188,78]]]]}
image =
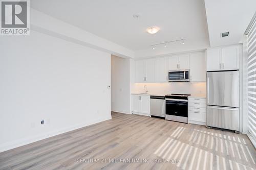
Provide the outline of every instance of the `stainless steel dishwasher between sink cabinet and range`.
{"type": "Polygon", "coordinates": [[[165,117],[165,96],[150,96],[150,114],[152,116],[165,117]]]}

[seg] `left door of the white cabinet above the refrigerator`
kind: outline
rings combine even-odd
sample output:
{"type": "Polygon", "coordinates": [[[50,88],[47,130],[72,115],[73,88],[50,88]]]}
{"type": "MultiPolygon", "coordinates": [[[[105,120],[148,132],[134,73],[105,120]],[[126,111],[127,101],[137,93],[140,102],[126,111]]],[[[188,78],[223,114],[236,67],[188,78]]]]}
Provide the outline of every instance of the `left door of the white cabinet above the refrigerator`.
{"type": "Polygon", "coordinates": [[[207,71],[221,70],[221,48],[207,49],[206,63],[207,71]]]}

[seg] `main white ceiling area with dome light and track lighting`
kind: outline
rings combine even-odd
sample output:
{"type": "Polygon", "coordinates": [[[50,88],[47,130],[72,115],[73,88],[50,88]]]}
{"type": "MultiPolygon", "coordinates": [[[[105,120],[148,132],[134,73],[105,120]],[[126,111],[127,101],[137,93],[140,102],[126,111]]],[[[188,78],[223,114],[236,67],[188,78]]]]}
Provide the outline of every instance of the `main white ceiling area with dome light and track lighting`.
{"type": "MultiPolygon", "coordinates": [[[[133,51],[149,51],[152,44],[182,38],[187,39],[186,45],[209,44],[203,0],[33,0],[30,5],[133,51]],[[135,13],[141,15],[139,19],[133,18],[135,13]],[[158,26],[160,31],[146,33],[150,26],[158,26]]],[[[181,44],[179,48],[182,50],[181,44]]]]}

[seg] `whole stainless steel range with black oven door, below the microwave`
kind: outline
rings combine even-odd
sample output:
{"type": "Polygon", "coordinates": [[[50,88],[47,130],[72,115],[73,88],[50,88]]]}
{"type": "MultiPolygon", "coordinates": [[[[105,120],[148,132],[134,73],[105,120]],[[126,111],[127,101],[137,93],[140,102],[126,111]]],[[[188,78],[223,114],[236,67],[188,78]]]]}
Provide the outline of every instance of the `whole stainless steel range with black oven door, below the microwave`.
{"type": "Polygon", "coordinates": [[[165,95],[165,119],[188,123],[188,96],[190,94],[165,95]]]}

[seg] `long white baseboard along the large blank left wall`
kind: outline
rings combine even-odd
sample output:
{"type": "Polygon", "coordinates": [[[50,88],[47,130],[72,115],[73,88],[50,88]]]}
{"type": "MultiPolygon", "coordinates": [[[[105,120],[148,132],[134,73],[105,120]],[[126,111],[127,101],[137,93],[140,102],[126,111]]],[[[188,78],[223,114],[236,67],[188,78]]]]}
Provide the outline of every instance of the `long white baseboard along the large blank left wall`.
{"type": "Polygon", "coordinates": [[[46,139],[46,138],[56,136],[56,135],[59,135],[59,134],[62,134],[62,133],[73,131],[73,130],[83,128],[83,127],[86,127],[86,126],[89,126],[89,125],[93,125],[93,124],[96,124],[96,123],[99,123],[99,122],[103,122],[103,121],[109,120],[111,118],[112,117],[110,115],[110,116],[107,116],[107,117],[104,117],[104,118],[93,120],[90,123],[79,124],[79,125],[71,126],[71,127],[68,127],[68,128],[63,128],[63,129],[55,130],[55,131],[52,131],[52,132],[48,132],[46,134],[41,134],[41,135],[37,135],[37,136],[33,136],[33,137],[27,137],[27,138],[23,138],[23,139],[11,141],[11,142],[3,143],[3,144],[0,145],[0,153],[4,152],[4,151],[11,150],[11,149],[14,149],[14,148],[17,148],[17,147],[21,147],[21,146],[29,144],[29,143],[36,142],[36,141],[39,141],[39,140],[42,140],[42,139],[46,139]]]}

